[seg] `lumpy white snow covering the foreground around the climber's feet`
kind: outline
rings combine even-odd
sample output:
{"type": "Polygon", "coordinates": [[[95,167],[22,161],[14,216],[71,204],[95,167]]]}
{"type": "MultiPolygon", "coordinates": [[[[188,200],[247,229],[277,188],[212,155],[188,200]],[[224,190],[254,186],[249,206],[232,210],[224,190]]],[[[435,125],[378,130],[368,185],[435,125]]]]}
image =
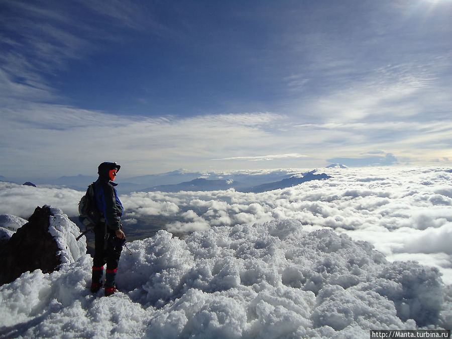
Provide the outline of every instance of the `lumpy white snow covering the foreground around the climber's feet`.
{"type": "MultiPolygon", "coordinates": [[[[72,240],[75,225],[54,212],[56,237],[72,240]]],[[[416,322],[452,325],[451,291],[437,269],[390,263],[367,242],[296,220],[213,227],[185,240],[162,230],[128,247],[110,297],[89,292],[88,255],[1,286],[0,335],[367,337],[416,322]]]]}

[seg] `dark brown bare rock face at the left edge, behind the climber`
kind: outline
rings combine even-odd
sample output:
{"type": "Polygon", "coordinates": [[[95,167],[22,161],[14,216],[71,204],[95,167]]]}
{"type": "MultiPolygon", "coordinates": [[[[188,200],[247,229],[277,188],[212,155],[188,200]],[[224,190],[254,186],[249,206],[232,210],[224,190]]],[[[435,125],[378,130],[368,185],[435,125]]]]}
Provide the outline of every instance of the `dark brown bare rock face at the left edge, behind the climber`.
{"type": "Polygon", "coordinates": [[[0,250],[0,285],[27,271],[53,272],[61,264],[55,238],[49,233],[49,206],[36,207],[28,222],[0,250]]]}

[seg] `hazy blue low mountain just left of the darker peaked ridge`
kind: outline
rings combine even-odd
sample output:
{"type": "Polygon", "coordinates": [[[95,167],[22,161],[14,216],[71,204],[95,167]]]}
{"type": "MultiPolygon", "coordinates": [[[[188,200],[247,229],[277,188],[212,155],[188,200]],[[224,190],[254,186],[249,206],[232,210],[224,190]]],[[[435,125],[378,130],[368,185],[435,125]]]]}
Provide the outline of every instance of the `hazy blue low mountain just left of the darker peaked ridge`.
{"type": "MultiPolygon", "coordinates": [[[[179,191],[218,191],[235,188],[241,184],[233,180],[207,180],[197,178],[191,181],[181,182],[176,185],[159,185],[146,189],[147,191],[179,192],[179,191]]],[[[145,191],[146,191],[145,190],[145,191]]]]}

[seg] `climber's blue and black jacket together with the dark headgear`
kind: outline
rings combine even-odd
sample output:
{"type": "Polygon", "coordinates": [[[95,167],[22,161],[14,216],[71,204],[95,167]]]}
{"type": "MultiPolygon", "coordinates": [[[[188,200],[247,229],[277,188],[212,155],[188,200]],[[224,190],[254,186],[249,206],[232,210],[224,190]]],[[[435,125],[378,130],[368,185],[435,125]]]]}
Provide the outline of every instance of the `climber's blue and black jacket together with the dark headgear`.
{"type": "Polygon", "coordinates": [[[117,168],[115,163],[104,162],[99,165],[99,178],[94,183],[97,209],[103,213],[107,228],[111,232],[121,229],[121,215],[124,207],[121,203],[115,186],[118,184],[110,181],[108,171],[117,168]]]}

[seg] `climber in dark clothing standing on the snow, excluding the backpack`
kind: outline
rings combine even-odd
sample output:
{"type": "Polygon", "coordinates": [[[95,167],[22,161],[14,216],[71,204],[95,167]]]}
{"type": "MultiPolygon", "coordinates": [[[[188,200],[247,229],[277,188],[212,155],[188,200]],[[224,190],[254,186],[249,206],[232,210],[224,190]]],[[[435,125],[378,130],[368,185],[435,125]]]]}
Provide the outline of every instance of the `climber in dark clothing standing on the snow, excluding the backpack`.
{"type": "Polygon", "coordinates": [[[105,271],[105,296],[115,293],[116,274],[126,235],[122,230],[121,215],[123,205],[118,197],[114,183],[121,166],[116,162],[103,162],[94,183],[96,206],[102,218],[94,226],[94,258],[92,266],[91,292],[96,293],[102,287],[103,266],[105,271]]]}

